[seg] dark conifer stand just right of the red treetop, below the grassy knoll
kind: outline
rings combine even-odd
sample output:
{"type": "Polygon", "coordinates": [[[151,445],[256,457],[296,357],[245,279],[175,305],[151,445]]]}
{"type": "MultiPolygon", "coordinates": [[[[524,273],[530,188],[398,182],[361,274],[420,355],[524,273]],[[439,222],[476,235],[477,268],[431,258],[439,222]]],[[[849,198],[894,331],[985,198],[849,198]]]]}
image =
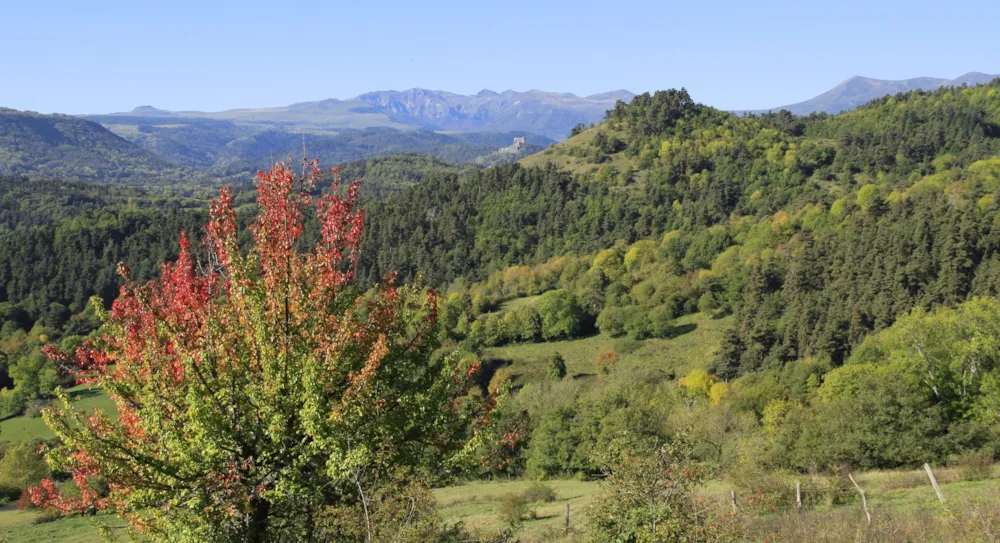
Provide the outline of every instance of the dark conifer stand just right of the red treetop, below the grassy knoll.
{"type": "Polygon", "coordinates": [[[422,272],[434,284],[481,279],[502,267],[596,251],[654,233],[667,211],[642,194],[613,193],[549,168],[490,168],[428,176],[368,207],[359,275],[422,272]],[[624,196],[624,198],[623,198],[624,196]],[[650,217],[639,216],[649,213],[650,217]],[[645,226],[643,226],[645,225],[645,226]]]}

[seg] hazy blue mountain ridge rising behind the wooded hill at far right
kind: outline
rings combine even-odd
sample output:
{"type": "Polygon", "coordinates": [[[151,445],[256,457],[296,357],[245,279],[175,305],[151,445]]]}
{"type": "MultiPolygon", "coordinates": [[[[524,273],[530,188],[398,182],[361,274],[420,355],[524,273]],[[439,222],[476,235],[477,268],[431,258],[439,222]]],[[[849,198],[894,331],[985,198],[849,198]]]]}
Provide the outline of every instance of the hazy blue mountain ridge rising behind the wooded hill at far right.
{"type": "Polygon", "coordinates": [[[1000,77],[1000,75],[990,75],[981,72],[969,72],[955,79],[915,77],[913,79],[900,79],[898,81],[855,76],[805,102],[789,104],[770,110],[758,110],[754,111],[754,113],[780,111],[782,109],[787,109],[796,115],[808,115],[813,112],[840,113],[841,111],[854,109],[883,96],[918,89],[931,91],[940,87],[982,85],[983,83],[989,83],[997,77],[1000,77]]]}

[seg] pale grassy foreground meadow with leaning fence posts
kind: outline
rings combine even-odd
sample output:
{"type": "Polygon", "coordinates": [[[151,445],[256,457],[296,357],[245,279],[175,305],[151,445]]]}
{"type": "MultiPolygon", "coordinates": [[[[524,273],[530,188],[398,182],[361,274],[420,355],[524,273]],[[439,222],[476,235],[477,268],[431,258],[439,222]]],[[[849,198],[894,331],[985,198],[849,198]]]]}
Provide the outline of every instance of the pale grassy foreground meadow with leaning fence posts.
{"type": "MultiPolygon", "coordinates": [[[[751,541],[757,535],[781,533],[779,541],[990,541],[986,530],[1000,515],[1000,479],[954,480],[959,476],[950,468],[935,468],[948,507],[937,500],[923,470],[875,471],[856,475],[865,488],[873,511],[868,527],[860,500],[832,506],[806,507],[804,513],[780,511],[754,518],[751,541]],[[922,480],[921,480],[922,477],[922,480]],[[974,521],[974,522],[973,522],[974,521]],[[927,539],[920,539],[925,534],[927,539]],[[964,534],[964,535],[963,535],[964,534]],[[956,537],[963,537],[955,539],[956,537]]],[[[993,477],[1000,477],[994,467],[993,477]]],[[[789,479],[791,481],[793,479],[789,479]]],[[[470,529],[495,533],[503,528],[499,512],[504,498],[519,495],[534,481],[476,481],[434,490],[441,517],[445,522],[462,522],[470,529]]],[[[601,492],[595,481],[544,481],[555,493],[550,502],[529,503],[516,533],[521,543],[586,541],[587,506],[601,492]],[[570,506],[570,531],[564,530],[566,505],[570,506]]],[[[728,504],[732,486],[725,481],[710,481],[700,491],[709,503],[728,504]]],[[[805,487],[808,488],[808,487],[805,487]]],[[[806,490],[808,491],[808,490],[806,490]]],[[[27,543],[90,543],[103,541],[101,525],[112,532],[121,529],[121,521],[107,516],[68,517],[38,522],[40,513],[0,508],[0,541],[27,543]]],[[[760,539],[763,540],[763,539],[760,539]]],[[[996,539],[993,539],[996,541],[996,539]]]]}

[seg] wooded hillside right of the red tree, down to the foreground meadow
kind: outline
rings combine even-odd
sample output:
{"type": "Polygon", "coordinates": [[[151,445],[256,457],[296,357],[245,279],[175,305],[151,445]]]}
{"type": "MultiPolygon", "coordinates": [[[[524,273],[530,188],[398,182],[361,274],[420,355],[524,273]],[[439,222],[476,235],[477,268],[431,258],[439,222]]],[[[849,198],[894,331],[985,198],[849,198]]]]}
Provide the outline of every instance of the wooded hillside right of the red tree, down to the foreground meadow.
{"type": "Polygon", "coordinates": [[[618,425],[665,438],[687,416],[712,428],[702,459],[748,477],[992,450],[1000,313],[978,297],[1000,289],[1000,82],[809,117],[658,92],[575,132],[532,167],[432,177],[367,216],[363,277],[450,285],[446,340],[469,349],[600,333],[641,352],[688,313],[731,319],[676,392],[653,359],[596,391],[533,384],[517,469],[595,469],[618,425]]]}

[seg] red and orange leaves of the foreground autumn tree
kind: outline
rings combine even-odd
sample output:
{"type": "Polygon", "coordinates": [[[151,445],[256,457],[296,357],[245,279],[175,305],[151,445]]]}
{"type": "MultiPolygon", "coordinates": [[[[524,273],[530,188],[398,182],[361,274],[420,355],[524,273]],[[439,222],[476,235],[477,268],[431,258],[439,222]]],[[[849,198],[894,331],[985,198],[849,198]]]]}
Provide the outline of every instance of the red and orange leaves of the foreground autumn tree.
{"type": "MultiPolygon", "coordinates": [[[[336,179],[339,171],[333,169],[330,173],[336,179]]],[[[161,428],[169,428],[174,420],[191,416],[185,407],[189,390],[204,394],[212,390],[212,380],[222,381],[230,372],[239,378],[249,375],[251,382],[253,376],[262,375],[268,360],[243,356],[261,349],[272,353],[272,359],[293,349],[304,349],[314,354],[315,360],[336,361],[345,351],[348,355],[344,356],[358,355],[364,362],[350,369],[346,380],[338,375],[339,367],[310,376],[320,381],[322,390],[342,391],[344,403],[362,402],[355,403],[359,410],[375,411],[386,405],[384,398],[376,398],[377,391],[370,383],[389,354],[390,344],[406,333],[401,316],[414,310],[398,299],[394,275],[386,278],[371,299],[359,297],[345,305],[338,296],[354,278],[364,212],[356,209],[357,182],[345,190],[335,181],[328,193],[313,197],[310,190],[321,175],[315,161],[304,165],[302,176],[283,164],[258,172],[259,214],[251,226],[255,245],[247,256],[241,254],[237,239],[232,190],[222,188],[219,197],[211,202],[206,228],[212,261],[196,263],[190,242],[182,233],[179,258],[163,264],[158,278],[140,284],[130,278],[128,266],[120,264],[124,284],[105,316],[115,333],[83,344],[74,355],[46,347],[45,354],[75,375],[79,383],[105,387],[118,407],[117,422],[103,414],[94,414],[85,421],[93,443],[118,432],[115,436],[124,436],[121,446],[126,449],[141,447],[147,441],[152,447],[151,432],[163,431],[161,428]],[[312,251],[301,251],[303,214],[310,206],[319,221],[320,241],[312,251]],[[258,336],[241,334],[260,322],[277,331],[266,336],[270,343],[261,344],[258,336]],[[345,381],[350,386],[345,387],[345,381]],[[142,414],[144,399],[149,398],[163,400],[157,406],[155,422],[150,422],[148,412],[142,414]]],[[[427,293],[424,310],[424,326],[415,331],[407,352],[423,346],[433,335],[437,320],[433,291],[427,293]]],[[[458,380],[471,383],[476,371],[478,365],[467,373],[463,371],[465,375],[458,380]]],[[[274,391],[278,402],[285,401],[280,386],[276,385],[274,391]]],[[[336,420],[341,408],[333,405],[331,409],[334,413],[330,420],[336,420]]],[[[231,429],[239,431],[239,422],[234,425],[236,428],[231,429]]],[[[146,476],[124,460],[114,474],[102,471],[102,466],[84,450],[77,448],[66,458],[79,497],[61,494],[51,480],[46,480],[27,491],[30,502],[66,512],[101,509],[127,496],[130,485],[146,476]],[[112,489],[108,498],[92,490],[93,480],[99,477],[112,489]]],[[[127,450],[128,454],[133,452],[127,450]]],[[[199,488],[232,488],[236,494],[243,493],[244,501],[247,494],[264,491],[236,483],[256,469],[252,457],[244,456],[211,469],[199,488]]]]}

